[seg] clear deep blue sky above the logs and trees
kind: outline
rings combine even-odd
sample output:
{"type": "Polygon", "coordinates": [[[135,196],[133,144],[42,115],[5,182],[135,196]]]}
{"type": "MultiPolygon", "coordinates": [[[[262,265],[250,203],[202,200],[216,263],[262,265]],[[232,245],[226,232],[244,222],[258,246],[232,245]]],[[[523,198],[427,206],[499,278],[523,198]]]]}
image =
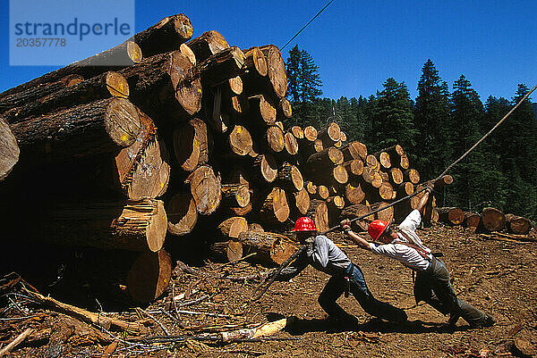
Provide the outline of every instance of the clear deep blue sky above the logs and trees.
{"type": "MultiPolygon", "coordinates": [[[[135,27],[140,31],[184,12],[194,37],[216,29],[230,45],[283,46],[327,3],[137,0],[135,27]]],[[[55,69],[9,65],[8,14],[8,1],[0,0],[0,91],[55,69]]],[[[483,101],[490,95],[510,98],[518,83],[537,83],[536,15],[536,1],[335,0],[283,55],[296,44],[308,51],[320,67],[323,96],[331,98],[370,96],[389,77],[405,81],[414,98],[428,58],[450,87],[465,74],[483,101]]]]}

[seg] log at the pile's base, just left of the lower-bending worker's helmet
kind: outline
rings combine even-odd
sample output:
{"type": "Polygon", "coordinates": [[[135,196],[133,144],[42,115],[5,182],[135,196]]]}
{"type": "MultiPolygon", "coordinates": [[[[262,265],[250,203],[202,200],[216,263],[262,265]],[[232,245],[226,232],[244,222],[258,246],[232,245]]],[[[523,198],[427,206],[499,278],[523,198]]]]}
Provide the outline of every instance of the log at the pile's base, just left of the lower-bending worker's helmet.
{"type": "Polygon", "coordinates": [[[248,230],[239,236],[239,240],[243,243],[244,254],[256,253],[252,261],[272,266],[286,262],[296,250],[288,237],[274,232],[248,230]]]}

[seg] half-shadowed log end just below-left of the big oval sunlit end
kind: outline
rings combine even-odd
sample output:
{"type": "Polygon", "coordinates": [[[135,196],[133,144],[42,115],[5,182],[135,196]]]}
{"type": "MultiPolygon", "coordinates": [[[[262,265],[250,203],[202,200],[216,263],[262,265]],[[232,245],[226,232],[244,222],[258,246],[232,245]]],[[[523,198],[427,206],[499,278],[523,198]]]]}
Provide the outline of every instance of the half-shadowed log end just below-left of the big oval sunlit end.
{"type": "Polygon", "coordinates": [[[166,203],[168,232],[175,236],[183,236],[192,231],[198,221],[198,212],[192,193],[177,193],[166,203]]]}

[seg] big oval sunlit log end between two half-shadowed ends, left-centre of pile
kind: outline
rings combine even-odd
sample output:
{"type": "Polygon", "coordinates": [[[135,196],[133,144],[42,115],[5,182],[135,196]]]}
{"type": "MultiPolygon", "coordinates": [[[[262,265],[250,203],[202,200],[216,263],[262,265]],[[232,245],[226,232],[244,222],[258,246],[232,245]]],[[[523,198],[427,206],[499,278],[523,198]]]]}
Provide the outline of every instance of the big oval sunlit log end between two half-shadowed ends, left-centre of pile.
{"type": "Polygon", "coordinates": [[[192,197],[201,215],[209,215],[217,210],[222,198],[222,187],[220,178],[209,165],[198,167],[186,182],[191,185],[192,197]]]}

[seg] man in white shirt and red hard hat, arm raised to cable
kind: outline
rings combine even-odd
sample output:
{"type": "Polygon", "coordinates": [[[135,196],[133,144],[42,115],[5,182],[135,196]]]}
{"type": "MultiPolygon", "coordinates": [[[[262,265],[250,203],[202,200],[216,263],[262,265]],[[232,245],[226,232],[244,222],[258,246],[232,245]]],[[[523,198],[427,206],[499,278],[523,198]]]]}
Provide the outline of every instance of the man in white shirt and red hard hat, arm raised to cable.
{"type": "Polygon", "coordinates": [[[455,326],[459,317],[462,317],[471,327],[490,327],[496,323],[494,317],[456,296],[449,282],[446,265],[434,257],[416,235],[416,229],[422,221],[421,211],[429,199],[430,191],[431,186],[427,187],[417,210],[410,212],[399,225],[398,233],[389,228],[388,222],[371,221],[368,233],[374,242],[369,243],[351,230],[349,220],[341,221],[341,226],[358,246],[395,259],[416,271],[413,288],[416,304],[425,301],[439,312],[449,313],[450,326],[455,326]]]}

